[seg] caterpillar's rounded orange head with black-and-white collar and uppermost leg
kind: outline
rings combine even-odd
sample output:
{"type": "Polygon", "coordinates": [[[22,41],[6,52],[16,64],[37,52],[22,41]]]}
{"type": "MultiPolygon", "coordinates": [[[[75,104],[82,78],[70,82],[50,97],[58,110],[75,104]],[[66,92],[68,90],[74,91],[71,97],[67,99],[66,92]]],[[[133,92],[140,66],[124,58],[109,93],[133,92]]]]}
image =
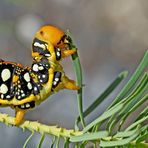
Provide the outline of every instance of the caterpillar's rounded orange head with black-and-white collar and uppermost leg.
{"type": "Polygon", "coordinates": [[[65,33],[54,26],[43,26],[35,34],[33,41],[33,57],[44,55],[51,60],[60,60],[62,57],[73,54],[76,50],[68,49],[68,40],[65,33]]]}

